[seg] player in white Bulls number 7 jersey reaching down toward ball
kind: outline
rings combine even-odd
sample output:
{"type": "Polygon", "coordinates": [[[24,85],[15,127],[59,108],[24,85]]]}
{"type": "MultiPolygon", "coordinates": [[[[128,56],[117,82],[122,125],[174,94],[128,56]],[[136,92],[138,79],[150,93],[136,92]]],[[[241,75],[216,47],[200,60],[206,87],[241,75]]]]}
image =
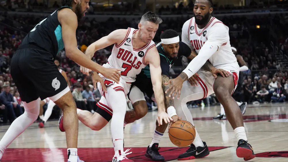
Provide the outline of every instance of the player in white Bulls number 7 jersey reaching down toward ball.
{"type": "MultiPolygon", "coordinates": [[[[162,119],[166,124],[173,121],[165,112],[160,56],[155,43],[152,41],[161,22],[161,18],[149,11],[142,16],[138,25],[139,30],[133,28],[115,30],[108,36],[91,44],[86,50],[86,55],[92,58],[96,50],[115,44],[108,63],[103,65],[103,67],[113,67],[122,70],[119,83],[100,75],[104,79],[107,89],[103,89],[101,85],[98,84],[99,91],[102,95],[98,106],[105,107],[107,112],[113,111],[111,119],[111,133],[115,151],[112,159],[113,162],[132,161],[126,158],[126,155],[129,154],[126,153],[128,150],[123,151],[123,124],[126,113],[126,95],[130,90],[131,83],[136,80],[136,75],[148,64],[151,69],[151,81],[155,92],[155,99],[158,104],[158,123],[162,125],[162,119]]],[[[83,67],[80,69],[84,74],[88,74],[90,71],[83,67]]],[[[93,81],[94,80],[96,79],[93,75],[93,81]]],[[[79,109],[77,112],[79,120],[91,129],[95,129],[94,123],[101,125],[104,119],[98,113],[94,113],[93,115],[89,111],[79,109]]],[[[107,122],[104,124],[106,123],[107,122]]],[[[61,120],[59,126],[61,130],[61,120]]]]}

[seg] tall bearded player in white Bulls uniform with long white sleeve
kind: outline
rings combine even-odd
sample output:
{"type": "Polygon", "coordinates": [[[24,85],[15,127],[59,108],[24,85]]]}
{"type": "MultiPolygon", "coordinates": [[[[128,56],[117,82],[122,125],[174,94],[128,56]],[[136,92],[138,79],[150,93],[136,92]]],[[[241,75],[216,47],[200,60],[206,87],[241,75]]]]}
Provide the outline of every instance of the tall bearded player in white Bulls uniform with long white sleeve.
{"type": "Polygon", "coordinates": [[[239,65],[230,46],[229,28],[212,16],[212,7],[212,0],[195,1],[193,10],[195,16],[184,23],[182,42],[195,50],[198,56],[177,78],[166,83],[170,84],[166,93],[171,90],[169,96],[172,96],[175,92],[173,98],[178,93],[179,99],[183,82],[193,76],[208,59],[217,69],[228,71],[230,76],[211,80],[212,85],[209,89],[215,92],[217,99],[224,107],[226,118],[234,129],[238,139],[236,155],[247,161],[253,159],[255,154],[252,146],[247,142],[239,106],[231,96],[237,86],[239,65]]]}

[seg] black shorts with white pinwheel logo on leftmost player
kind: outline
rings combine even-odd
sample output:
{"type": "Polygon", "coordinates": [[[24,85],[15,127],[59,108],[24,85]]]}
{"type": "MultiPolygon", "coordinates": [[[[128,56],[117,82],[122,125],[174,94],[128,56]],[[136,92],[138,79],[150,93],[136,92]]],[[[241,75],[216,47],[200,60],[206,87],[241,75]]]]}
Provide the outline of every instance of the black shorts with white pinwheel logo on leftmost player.
{"type": "Polygon", "coordinates": [[[40,49],[17,50],[11,60],[11,76],[21,100],[27,103],[40,97],[57,101],[70,91],[65,78],[54,64],[51,53],[40,49]]]}

